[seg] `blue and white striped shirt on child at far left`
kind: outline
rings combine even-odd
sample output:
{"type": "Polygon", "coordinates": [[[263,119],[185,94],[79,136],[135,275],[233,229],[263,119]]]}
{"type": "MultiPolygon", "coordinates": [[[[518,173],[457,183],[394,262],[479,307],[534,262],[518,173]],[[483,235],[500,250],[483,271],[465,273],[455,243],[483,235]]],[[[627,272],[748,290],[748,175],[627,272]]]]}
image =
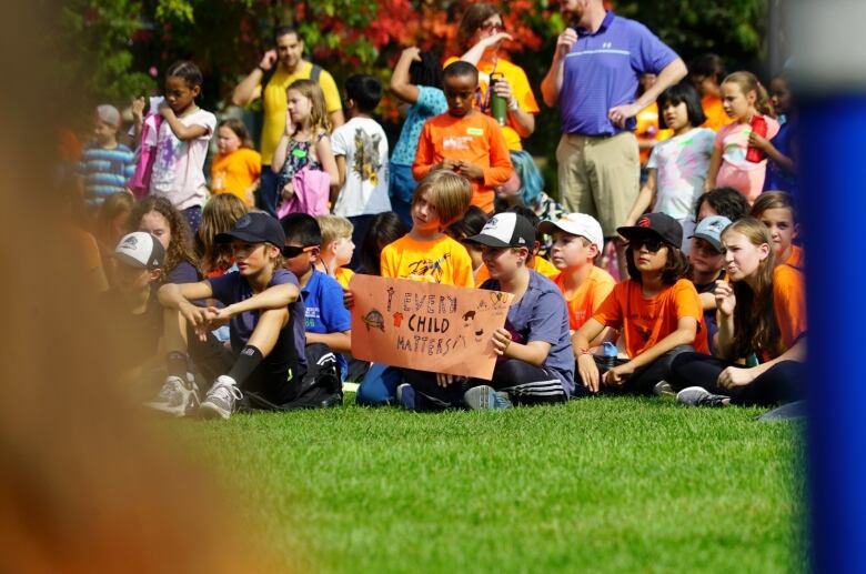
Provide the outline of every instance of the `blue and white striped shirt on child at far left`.
{"type": "Polygon", "coordinates": [[[84,178],[84,200],[99,207],[108,195],[127,189],[135,171],[132,151],[119,143],[113,150],[90,145],[81,154],[78,173],[84,178]]]}

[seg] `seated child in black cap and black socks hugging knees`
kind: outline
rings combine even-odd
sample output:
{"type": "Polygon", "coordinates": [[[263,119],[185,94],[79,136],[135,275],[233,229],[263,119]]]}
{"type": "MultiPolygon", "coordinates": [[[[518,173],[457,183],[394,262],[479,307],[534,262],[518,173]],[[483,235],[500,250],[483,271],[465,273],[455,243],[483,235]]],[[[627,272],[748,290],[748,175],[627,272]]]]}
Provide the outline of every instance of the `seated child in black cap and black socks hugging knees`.
{"type": "Polygon", "coordinates": [[[302,318],[289,313],[300,291],[294,275],[282,269],[285,236],[280,222],[265,213],[248,213],[216,239],[231,242],[238,271],[199,283],[167,284],[159,291],[165,308],[169,376],[151,406],[177,416],[198,404],[198,389],[188,375],[190,359],[214,379],[198,407],[203,417],[229,419],[244,396],[244,406],[279,409],[296,397],[303,375],[296,346],[302,318]],[[192,303],[209,298],[225,306],[192,303]],[[211,333],[225,321],[231,350],[211,333]]]}

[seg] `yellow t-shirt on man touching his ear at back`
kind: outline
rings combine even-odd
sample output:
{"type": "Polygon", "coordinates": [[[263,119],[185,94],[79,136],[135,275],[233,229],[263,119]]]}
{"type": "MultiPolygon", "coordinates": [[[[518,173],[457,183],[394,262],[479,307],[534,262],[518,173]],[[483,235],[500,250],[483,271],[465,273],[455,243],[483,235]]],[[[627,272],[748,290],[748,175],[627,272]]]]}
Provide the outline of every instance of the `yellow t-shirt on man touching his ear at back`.
{"type": "MultiPolygon", "coordinates": [[[[264,87],[264,93],[262,94],[262,107],[264,108],[262,165],[271,164],[273,152],[276,149],[276,144],[280,143],[280,137],[285,131],[285,107],[288,105],[285,90],[295,80],[309,80],[312,72],[313,64],[311,62],[303,62],[294,73],[286,72],[282,64],[279,64],[271,80],[264,87]]],[[[319,74],[319,85],[324,92],[328,113],[342,110],[343,104],[340,101],[340,90],[336,89],[334,78],[322,70],[322,73],[319,74]]]]}

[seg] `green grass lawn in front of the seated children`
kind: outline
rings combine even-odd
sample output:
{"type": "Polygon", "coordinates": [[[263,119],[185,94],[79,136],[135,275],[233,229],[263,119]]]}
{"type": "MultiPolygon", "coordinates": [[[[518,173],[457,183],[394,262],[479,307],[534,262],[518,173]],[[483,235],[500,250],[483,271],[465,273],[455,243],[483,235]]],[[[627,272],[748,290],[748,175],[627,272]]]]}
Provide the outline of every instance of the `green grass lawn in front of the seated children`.
{"type": "Polygon", "coordinates": [[[800,427],[759,412],[638,399],[346,405],[184,431],[300,570],[803,570],[800,427]]]}

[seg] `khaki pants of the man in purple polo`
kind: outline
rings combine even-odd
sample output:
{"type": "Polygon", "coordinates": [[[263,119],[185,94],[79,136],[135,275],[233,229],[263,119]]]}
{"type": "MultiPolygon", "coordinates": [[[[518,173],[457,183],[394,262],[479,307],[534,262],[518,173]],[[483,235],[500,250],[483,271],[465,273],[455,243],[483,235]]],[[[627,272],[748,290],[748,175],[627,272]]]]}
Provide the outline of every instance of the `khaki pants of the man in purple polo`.
{"type": "Polygon", "coordinates": [[[560,198],[566,211],[594,216],[605,238],[615,236],[640,191],[641,162],[634,133],[564,133],[556,161],[560,198]]]}

